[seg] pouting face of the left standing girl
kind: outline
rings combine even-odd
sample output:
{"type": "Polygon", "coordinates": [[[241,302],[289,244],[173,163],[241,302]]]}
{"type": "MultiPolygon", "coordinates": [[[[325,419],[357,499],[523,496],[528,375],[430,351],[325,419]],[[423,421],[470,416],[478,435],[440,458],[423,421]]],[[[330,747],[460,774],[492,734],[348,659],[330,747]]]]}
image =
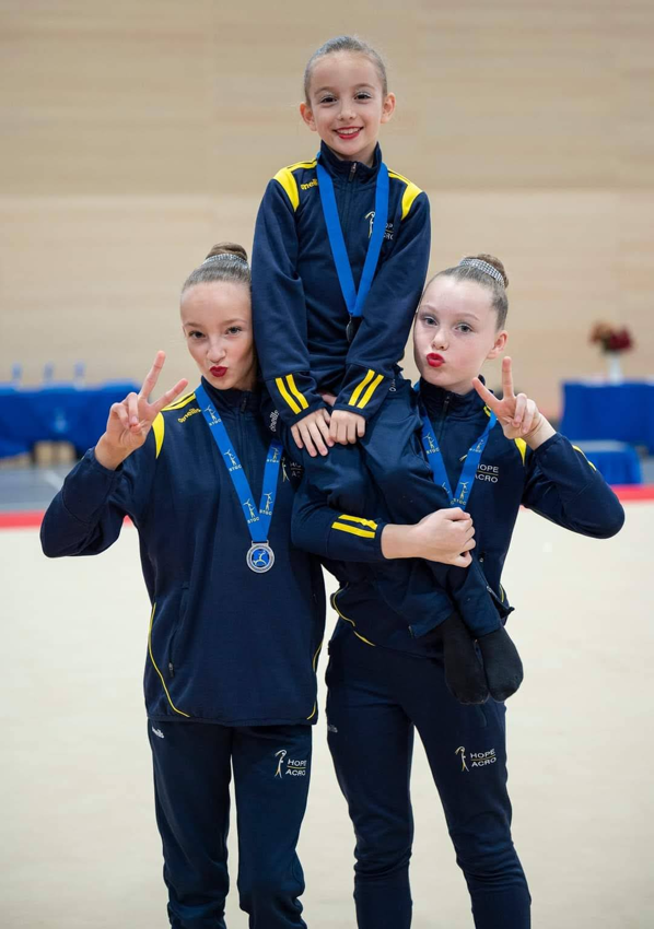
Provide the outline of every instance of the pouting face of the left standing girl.
{"type": "Polygon", "coordinates": [[[202,377],[218,390],[252,390],[257,361],[246,284],[195,284],[182,294],[182,328],[202,377]]]}

